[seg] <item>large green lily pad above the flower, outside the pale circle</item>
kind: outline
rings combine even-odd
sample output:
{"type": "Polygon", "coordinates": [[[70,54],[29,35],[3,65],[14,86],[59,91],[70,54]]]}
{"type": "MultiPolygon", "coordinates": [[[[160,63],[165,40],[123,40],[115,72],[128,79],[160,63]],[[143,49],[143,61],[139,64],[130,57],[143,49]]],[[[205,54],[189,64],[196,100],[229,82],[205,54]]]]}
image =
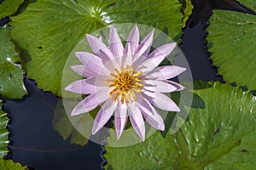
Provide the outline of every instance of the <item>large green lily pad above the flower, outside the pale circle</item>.
{"type": "Polygon", "coordinates": [[[109,24],[135,22],[167,28],[169,35],[176,37],[183,26],[180,8],[176,0],[38,0],[11,18],[11,35],[27,50],[22,55],[27,77],[35,79],[39,88],[61,96],[62,70],[85,33],[109,24]]]}

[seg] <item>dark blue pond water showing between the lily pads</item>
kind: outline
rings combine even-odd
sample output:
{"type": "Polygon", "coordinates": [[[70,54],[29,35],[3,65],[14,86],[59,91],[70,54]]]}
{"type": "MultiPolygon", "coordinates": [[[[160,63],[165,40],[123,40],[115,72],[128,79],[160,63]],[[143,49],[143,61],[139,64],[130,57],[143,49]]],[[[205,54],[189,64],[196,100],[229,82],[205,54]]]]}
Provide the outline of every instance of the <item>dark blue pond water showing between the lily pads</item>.
{"type": "MultiPolygon", "coordinates": [[[[205,48],[206,18],[198,19],[206,11],[210,15],[211,9],[209,4],[197,4],[189,20],[189,23],[192,20],[190,28],[183,31],[180,48],[189,61],[195,80],[222,81],[205,48]],[[203,24],[201,20],[204,21],[203,24]]],[[[32,80],[25,78],[25,83],[29,95],[20,101],[7,99],[3,105],[11,120],[9,158],[37,170],[102,169],[102,163],[105,162],[102,158],[103,147],[92,142],[82,147],[69,144],[68,140],[63,141],[52,126],[58,98],[51,93],[42,92],[32,80]]]]}

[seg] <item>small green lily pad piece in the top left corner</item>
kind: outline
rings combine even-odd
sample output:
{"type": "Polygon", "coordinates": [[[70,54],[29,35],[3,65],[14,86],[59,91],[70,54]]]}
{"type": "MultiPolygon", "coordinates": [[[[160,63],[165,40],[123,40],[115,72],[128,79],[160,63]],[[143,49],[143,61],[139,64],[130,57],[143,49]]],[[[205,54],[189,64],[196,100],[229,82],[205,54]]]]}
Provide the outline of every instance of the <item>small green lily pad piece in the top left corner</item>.
{"type": "Polygon", "coordinates": [[[24,0],[5,0],[0,5],[0,19],[9,16],[11,14],[15,14],[16,10],[20,7],[20,4],[23,3],[24,0]]]}

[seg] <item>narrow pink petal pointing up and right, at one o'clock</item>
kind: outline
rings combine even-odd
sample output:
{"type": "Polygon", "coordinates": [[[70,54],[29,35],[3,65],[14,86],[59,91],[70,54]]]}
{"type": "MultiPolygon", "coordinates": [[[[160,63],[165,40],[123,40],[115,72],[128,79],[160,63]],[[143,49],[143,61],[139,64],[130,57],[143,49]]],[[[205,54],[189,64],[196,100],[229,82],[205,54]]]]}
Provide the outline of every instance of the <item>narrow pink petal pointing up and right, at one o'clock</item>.
{"type": "Polygon", "coordinates": [[[154,36],[154,29],[151,32],[149,32],[149,34],[146,37],[144,37],[142,42],[140,42],[137,48],[137,51],[135,53],[136,56],[134,60],[137,60],[138,58],[141,58],[141,57],[144,58],[148,55],[153,42],[153,36],[154,36]]]}

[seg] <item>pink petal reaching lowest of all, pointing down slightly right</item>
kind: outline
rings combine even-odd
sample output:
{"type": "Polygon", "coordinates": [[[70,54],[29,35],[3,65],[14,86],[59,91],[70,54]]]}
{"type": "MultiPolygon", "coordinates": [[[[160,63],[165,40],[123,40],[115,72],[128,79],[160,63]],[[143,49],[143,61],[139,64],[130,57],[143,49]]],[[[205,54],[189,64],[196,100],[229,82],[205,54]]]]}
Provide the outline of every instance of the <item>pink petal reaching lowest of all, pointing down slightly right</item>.
{"type": "Polygon", "coordinates": [[[128,115],[130,122],[137,135],[145,141],[145,125],[143,120],[143,114],[136,105],[136,102],[128,104],[128,115]]]}

